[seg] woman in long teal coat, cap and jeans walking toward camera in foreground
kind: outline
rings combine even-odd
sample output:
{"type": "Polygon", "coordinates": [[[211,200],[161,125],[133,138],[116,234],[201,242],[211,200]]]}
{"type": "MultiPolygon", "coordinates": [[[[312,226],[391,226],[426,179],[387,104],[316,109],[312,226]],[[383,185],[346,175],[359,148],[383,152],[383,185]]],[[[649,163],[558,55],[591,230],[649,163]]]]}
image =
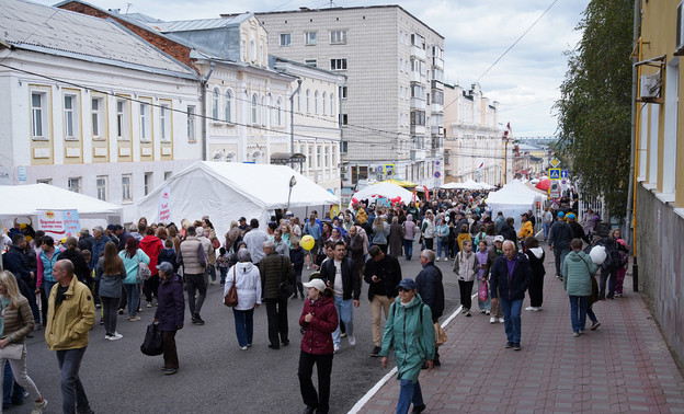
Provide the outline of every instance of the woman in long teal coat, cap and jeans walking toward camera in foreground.
{"type": "Polygon", "coordinates": [[[409,412],[413,403],[413,413],[425,410],[418,376],[423,363],[432,369],[435,334],[430,307],[415,292],[415,281],[403,279],[397,287],[399,297],[389,308],[389,318],[385,323],[383,347],[379,355],[383,368],[387,368],[387,355],[394,347],[397,360],[397,379],[401,381],[397,414],[409,412]]]}

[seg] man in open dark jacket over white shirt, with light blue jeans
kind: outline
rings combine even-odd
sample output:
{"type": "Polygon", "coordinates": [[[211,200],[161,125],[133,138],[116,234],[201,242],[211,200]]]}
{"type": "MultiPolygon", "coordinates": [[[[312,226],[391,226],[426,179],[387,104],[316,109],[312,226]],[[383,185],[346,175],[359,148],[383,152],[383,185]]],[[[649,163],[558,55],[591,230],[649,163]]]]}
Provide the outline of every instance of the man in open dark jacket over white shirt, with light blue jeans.
{"type": "MultiPolygon", "coordinates": [[[[354,308],[358,308],[358,298],[361,297],[361,279],[354,269],[354,263],[346,257],[346,245],[343,241],[335,243],[333,257],[324,261],[321,265],[320,278],[334,292],[335,309],[346,327],[346,337],[350,345],[356,345],[353,321],[354,308]]],[[[335,332],[332,333],[335,353],[341,347],[340,335],[340,326],[338,326],[335,332]]]]}

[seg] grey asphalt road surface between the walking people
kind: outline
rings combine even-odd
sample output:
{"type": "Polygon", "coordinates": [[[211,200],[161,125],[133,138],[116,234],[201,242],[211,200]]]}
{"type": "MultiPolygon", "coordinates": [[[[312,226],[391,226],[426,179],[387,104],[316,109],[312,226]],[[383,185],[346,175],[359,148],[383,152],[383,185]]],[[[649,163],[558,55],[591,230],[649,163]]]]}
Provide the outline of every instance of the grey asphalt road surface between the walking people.
{"type": "MultiPolygon", "coordinates": [[[[418,255],[407,262],[399,258],[403,277],[414,278],[420,272],[418,255]]],[[[437,264],[444,274],[446,319],[458,306],[458,284],[452,272],[453,262],[437,264]]],[[[304,278],[307,278],[305,268],[304,278]]],[[[346,413],[387,371],[379,358],[371,357],[371,309],[367,285],[362,290],[361,307],[354,310],[356,346],[342,338],[332,367],[331,413],[346,413]]],[[[186,307],[187,308],[187,307],[186,307]]],[[[146,326],[155,309],[144,308],[142,320],[128,322],[118,317],[119,341],[104,338],[102,325],[95,324],[83,358],[80,377],[95,413],[300,413],[304,409],[297,379],[299,359],[298,319],[303,302],[289,300],[289,340],[280,350],[267,348],[266,312],[254,312],[253,347],[238,347],[232,311],[223,304],[223,286],[213,285],[202,310],[203,326],[190,323],[179,331],[176,344],[180,370],[164,376],[161,356],[140,353],[146,326]]],[[[29,376],[48,400],[47,412],[61,411],[59,369],[54,352],[47,349],[44,331],[27,340],[29,376]]],[[[316,380],[315,380],[316,383],[316,380]]],[[[31,404],[5,410],[29,413],[31,404]]]]}

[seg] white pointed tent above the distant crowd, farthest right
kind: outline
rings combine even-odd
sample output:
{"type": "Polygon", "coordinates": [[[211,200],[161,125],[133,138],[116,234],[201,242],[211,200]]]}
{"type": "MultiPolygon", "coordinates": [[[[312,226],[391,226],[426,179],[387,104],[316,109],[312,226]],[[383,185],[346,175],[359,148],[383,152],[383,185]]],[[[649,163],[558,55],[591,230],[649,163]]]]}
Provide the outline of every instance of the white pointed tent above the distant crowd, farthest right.
{"type": "Polygon", "coordinates": [[[536,203],[542,203],[545,198],[520,180],[513,180],[498,192],[489,193],[487,205],[491,207],[494,217],[499,211],[502,211],[504,217],[513,217],[515,228],[520,230],[521,215],[528,210],[535,211],[536,203]]]}

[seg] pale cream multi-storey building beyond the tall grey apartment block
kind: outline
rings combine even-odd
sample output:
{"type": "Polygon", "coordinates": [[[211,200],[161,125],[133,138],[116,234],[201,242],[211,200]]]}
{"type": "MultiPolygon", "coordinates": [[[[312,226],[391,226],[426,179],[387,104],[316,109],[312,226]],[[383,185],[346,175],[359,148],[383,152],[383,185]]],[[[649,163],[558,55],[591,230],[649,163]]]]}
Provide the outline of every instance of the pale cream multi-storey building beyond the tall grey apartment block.
{"type": "Polygon", "coordinates": [[[513,145],[505,149],[509,162],[504,162],[499,102],[486,97],[478,83],[468,90],[445,84],[444,101],[444,181],[463,183],[474,180],[491,185],[503,184],[504,168],[510,173],[515,168],[513,145]]]}

